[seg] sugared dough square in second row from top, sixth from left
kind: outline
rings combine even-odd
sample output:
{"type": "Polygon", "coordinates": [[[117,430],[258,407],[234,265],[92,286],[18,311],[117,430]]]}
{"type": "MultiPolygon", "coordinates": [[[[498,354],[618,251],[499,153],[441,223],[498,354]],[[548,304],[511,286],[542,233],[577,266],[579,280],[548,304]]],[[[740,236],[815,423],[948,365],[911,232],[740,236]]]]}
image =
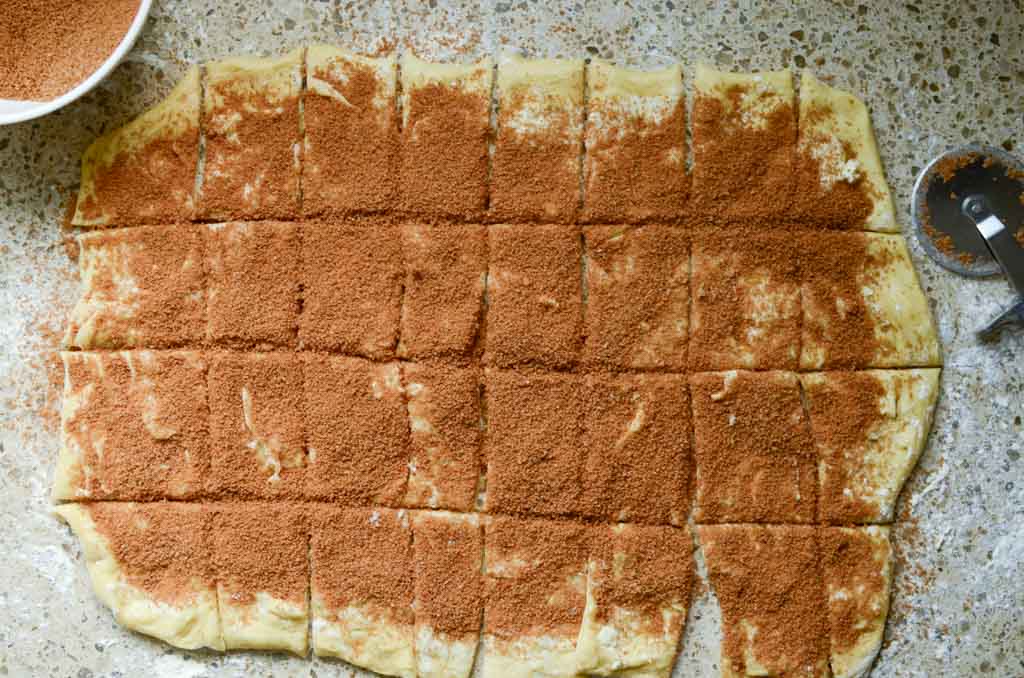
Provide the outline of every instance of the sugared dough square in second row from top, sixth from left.
{"type": "Polygon", "coordinates": [[[686,369],[690,244],[679,228],[587,226],[583,362],[686,369]]]}

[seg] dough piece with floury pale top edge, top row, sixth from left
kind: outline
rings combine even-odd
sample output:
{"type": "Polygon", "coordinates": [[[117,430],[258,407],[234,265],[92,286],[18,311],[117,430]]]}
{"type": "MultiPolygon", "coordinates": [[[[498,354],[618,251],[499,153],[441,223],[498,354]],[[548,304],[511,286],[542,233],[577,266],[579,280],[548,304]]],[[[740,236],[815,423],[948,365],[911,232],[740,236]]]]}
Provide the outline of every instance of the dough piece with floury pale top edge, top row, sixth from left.
{"type": "Polygon", "coordinates": [[[587,85],[584,218],[681,217],[690,188],[682,69],[645,73],[591,59],[587,85]]]}

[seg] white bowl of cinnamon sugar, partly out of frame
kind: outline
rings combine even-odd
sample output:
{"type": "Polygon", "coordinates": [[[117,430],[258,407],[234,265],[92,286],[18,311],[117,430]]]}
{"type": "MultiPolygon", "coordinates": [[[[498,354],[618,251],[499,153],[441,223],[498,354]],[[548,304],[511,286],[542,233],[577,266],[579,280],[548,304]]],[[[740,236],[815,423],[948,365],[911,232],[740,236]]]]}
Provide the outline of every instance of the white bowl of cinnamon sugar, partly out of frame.
{"type": "Polygon", "coordinates": [[[68,105],[121,62],[153,0],[0,0],[0,125],[68,105]]]}

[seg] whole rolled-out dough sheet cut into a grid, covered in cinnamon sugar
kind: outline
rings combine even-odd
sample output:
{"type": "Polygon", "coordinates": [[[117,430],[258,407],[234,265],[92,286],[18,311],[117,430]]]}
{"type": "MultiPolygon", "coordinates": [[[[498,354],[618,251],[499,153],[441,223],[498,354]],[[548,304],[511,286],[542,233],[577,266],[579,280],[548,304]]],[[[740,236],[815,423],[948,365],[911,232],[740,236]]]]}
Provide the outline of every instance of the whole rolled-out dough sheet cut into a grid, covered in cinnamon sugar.
{"type": "Polygon", "coordinates": [[[394,676],[856,676],[940,356],[809,73],[194,69],[85,154],[55,498],[185,648],[394,676]],[[169,501],[173,500],[173,501],[169,501]],[[685,672],[685,667],[683,668],[685,672]]]}

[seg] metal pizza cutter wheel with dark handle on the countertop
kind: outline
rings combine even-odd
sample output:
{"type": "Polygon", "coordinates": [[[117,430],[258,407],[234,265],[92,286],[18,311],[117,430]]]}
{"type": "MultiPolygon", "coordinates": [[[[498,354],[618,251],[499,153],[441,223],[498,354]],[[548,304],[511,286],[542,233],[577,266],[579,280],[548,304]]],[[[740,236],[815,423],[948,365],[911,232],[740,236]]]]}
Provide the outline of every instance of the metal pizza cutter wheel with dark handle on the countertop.
{"type": "Polygon", "coordinates": [[[991,146],[946,152],[918,176],[911,209],[918,239],[939,265],[970,278],[1001,271],[1017,293],[979,338],[1024,328],[1024,165],[991,146]]]}

